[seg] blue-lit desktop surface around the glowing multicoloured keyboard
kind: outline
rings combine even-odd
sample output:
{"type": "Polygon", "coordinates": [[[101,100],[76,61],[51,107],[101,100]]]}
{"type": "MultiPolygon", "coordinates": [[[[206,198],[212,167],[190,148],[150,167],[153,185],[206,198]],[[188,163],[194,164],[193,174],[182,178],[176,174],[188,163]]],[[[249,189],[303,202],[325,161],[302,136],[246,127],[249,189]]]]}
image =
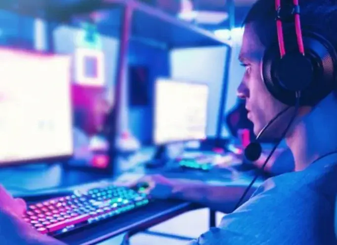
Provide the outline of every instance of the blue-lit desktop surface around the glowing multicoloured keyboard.
{"type": "MultiPolygon", "coordinates": [[[[48,166],[44,171],[37,171],[36,173],[34,173],[34,171],[26,171],[28,167],[34,168],[33,166],[22,166],[22,168],[19,169],[13,168],[11,170],[6,170],[6,173],[2,173],[3,176],[8,176],[10,171],[11,178],[2,178],[1,182],[4,186],[10,186],[13,183],[14,178],[20,178],[21,183],[23,183],[21,186],[25,186],[24,183],[27,183],[27,188],[30,188],[30,193],[33,194],[34,192],[32,190],[34,190],[34,188],[58,187],[60,190],[68,191],[84,187],[95,188],[104,184],[106,185],[107,183],[119,183],[120,185],[123,183],[123,179],[126,180],[126,182],[132,182],[147,174],[161,173],[169,178],[180,178],[192,182],[197,181],[198,183],[204,183],[205,185],[215,184],[226,186],[229,195],[228,197],[224,197],[224,206],[228,206],[228,210],[232,209],[233,204],[237,202],[238,198],[253,178],[253,175],[245,175],[244,173],[233,175],[228,171],[227,173],[222,172],[222,174],[217,174],[215,171],[172,172],[163,171],[162,169],[146,170],[141,165],[138,165],[136,168],[132,168],[132,170],[118,178],[111,179],[103,175],[92,175],[91,173],[85,173],[78,170],[65,169],[62,165],[48,166]],[[103,178],[105,178],[105,180],[102,180],[103,178]],[[92,183],[87,183],[90,181],[92,183]],[[30,186],[29,183],[31,183],[30,186]],[[235,191],[233,191],[234,189],[235,191]]],[[[39,168],[42,168],[42,165],[39,165],[39,168]]],[[[258,184],[259,183],[256,183],[256,185],[254,185],[252,191],[257,188],[258,184]]],[[[19,190],[17,190],[17,193],[19,193],[19,190]]],[[[21,190],[21,193],[27,192],[21,190]]],[[[96,244],[125,232],[131,232],[132,234],[137,231],[142,231],[178,214],[199,207],[200,206],[181,200],[153,200],[153,202],[140,207],[137,210],[131,210],[130,212],[116,215],[105,221],[97,222],[96,224],[85,226],[64,234],[58,234],[56,237],[70,245],[96,244]]]]}

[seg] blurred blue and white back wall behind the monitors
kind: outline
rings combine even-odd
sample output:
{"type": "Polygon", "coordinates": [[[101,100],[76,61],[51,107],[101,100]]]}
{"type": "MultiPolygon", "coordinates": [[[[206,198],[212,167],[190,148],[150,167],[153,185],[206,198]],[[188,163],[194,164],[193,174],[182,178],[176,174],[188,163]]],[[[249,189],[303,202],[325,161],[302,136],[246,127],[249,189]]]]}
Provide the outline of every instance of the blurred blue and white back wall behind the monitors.
{"type": "MultiPolygon", "coordinates": [[[[74,39],[79,30],[67,26],[59,27],[55,33],[55,51],[58,53],[73,53],[74,39]]],[[[106,36],[102,37],[103,52],[105,53],[107,85],[113,89],[116,79],[116,63],[118,59],[119,41],[106,36]]],[[[243,68],[237,61],[239,47],[236,46],[232,53],[232,62],[229,71],[229,84],[225,112],[228,112],[236,102],[236,87],[238,86],[243,68]]],[[[209,103],[209,122],[207,134],[209,137],[216,135],[216,127],[220,106],[220,98],[225,74],[226,47],[206,47],[175,49],[170,53],[161,48],[155,48],[145,43],[131,41],[129,46],[128,64],[148,66],[150,70],[150,95],[153,94],[153,85],[158,76],[169,76],[187,81],[208,83],[210,85],[211,99],[209,103]],[[169,69],[170,68],[170,69],[169,69]],[[168,70],[169,69],[169,70],[168,70]]],[[[126,77],[127,79],[127,77],[126,77]]],[[[123,88],[122,106],[128,106],[127,84],[123,88]]],[[[122,130],[130,130],[141,142],[148,143],[152,138],[152,102],[149,106],[138,106],[129,110],[122,110],[122,130]]],[[[225,125],[223,137],[228,137],[225,125]]]]}

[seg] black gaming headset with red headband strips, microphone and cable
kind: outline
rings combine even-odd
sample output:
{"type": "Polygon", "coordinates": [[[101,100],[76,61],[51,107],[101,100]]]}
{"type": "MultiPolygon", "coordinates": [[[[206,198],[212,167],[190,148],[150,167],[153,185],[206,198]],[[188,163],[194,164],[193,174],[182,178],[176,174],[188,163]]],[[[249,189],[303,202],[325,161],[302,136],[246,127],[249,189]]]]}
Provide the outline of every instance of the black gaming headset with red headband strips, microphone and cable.
{"type": "MultiPolygon", "coordinates": [[[[275,0],[275,10],[278,42],[264,52],[261,76],[270,94],[288,107],[268,122],[255,141],[246,147],[246,158],[252,162],[256,161],[262,152],[258,140],[263,132],[292,106],[295,106],[295,112],[282,137],[265,160],[262,171],[286,136],[295,120],[298,107],[316,105],[337,87],[336,50],[323,36],[309,29],[302,29],[298,0],[282,7],[281,0],[275,0]],[[291,24],[289,26],[292,28],[283,28],[284,24],[291,24]]],[[[257,177],[258,175],[253,178],[235,209],[240,206],[257,177]]]]}

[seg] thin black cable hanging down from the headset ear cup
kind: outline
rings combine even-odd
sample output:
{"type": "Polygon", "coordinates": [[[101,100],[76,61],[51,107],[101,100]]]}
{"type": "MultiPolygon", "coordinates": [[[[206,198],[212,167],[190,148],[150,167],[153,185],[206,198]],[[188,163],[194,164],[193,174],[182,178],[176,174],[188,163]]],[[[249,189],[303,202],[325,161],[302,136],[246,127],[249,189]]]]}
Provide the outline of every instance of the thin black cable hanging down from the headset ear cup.
{"type": "MultiPolygon", "coordinates": [[[[277,141],[277,143],[275,144],[275,146],[273,147],[273,149],[271,150],[270,154],[268,155],[267,159],[264,161],[263,165],[262,165],[262,168],[261,168],[261,172],[263,172],[265,166],[267,165],[268,161],[270,160],[270,158],[272,157],[273,153],[275,152],[275,150],[277,149],[277,147],[279,146],[279,144],[281,143],[281,141],[283,140],[283,138],[287,135],[290,127],[292,126],[295,118],[296,118],[296,115],[297,115],[297,111],[298,111],[298,108],[299,108],[299,100],[300,100],[300,92],[296,92],[296,103],[295,103],[295,111],[294,111],[294,114],[287,126],[287,128],[284,130],[283,134],[281,135],[280,139],[277,141]]],[[[287,110],[287,109],[286,109],[287,110]]],[[[283,110],[283,112],[285,112],[286,110],[283,110]]],[[[281,111],[282,112],[282,111],[281,111]]],[[[281,112],[279,114],[281,114],[281,112]]],[[[279,115],[278,114],[278,115],[279,115]]],[[[272,121],[275,121],[276,120],[276,117],[274,117],[274,120],[272,121]]],[[[270,123],[268,123],[267,125],[270,125],[270,123]]],[[[266,129],[266,127],[263,128],[264,130],[266,129]]],[[[263,130],[262,129],[262,130],[263,130]]],[[[259,134],[257,137],[259,137],[261,134],[259,134]]],[[[256,138],[257,138],[256,137],[256,138]]],[[[255,177],[253,178],[252,182],[249,184],[249,186],[246,188],[244,194],[241,196],[239,202],[236,204],[234,210],[236,210],[241,202],[244,200],[244,198],[246,197],[248,191],[252,188],[254,182],[256,181],[256,179],[260,176],[260,173],[256,174],[255,177]]]]}

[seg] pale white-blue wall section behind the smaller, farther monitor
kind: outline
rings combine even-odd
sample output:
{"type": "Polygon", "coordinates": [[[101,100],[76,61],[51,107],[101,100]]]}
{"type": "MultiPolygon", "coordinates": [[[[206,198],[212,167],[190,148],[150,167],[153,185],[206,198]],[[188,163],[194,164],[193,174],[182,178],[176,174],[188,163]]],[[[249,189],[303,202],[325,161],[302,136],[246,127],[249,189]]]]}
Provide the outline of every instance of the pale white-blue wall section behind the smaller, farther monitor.
{"type": "Polygon", "coordinates": [[[221,91],[227,70],[227,47],[175,49],[170,53],[171,76],[207,83],[210,88],[207,135],[216,136],[221,91]]]}

